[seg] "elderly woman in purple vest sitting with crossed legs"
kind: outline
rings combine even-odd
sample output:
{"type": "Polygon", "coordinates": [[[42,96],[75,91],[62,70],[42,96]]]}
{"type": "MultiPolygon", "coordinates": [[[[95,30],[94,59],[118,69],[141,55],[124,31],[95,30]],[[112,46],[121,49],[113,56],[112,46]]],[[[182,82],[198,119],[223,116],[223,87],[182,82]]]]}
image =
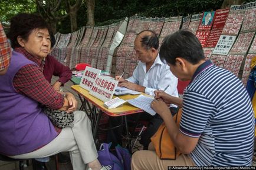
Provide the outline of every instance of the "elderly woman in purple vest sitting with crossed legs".
{"type": "Polygon", "coordinates": [[[51,47],[44,19],[18,14],[9,31],[14,48],[9,69],[0,76],[0,153],[11,158],[42,158],[69,151],[74,170],[107,169],[97,157],[87,115],[75,111],[71,93],[55,91],[42,74],[42,59],[51,47]],[[41,105],[74,113],[74,121],[60,129],[52,125],[41,105]]]}

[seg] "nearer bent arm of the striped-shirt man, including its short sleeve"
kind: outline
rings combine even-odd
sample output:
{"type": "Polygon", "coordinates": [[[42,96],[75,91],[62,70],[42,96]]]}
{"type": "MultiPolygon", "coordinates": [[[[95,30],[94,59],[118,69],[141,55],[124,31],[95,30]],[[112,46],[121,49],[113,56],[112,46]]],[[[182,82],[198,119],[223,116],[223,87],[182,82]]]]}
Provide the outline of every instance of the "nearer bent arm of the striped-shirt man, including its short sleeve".
{"type": "MultiPolygon", "coordinates": [[[[165,96],[163,96],[163,99],[165,99],[165,96]]],[[[182,106],[182,118],[178,128],[165,102],[154,100],[151,104],[151,107],[163,118],[175,146],[183,154],[189,154],[198,144],[201,133],[204,131],[209,118],[215,112],[215,106],[204,95],[195,92],[186,92],[186,99],[182,106]],[[200,104],[199,101],[203,101],[204,104],[200,104]]]]}

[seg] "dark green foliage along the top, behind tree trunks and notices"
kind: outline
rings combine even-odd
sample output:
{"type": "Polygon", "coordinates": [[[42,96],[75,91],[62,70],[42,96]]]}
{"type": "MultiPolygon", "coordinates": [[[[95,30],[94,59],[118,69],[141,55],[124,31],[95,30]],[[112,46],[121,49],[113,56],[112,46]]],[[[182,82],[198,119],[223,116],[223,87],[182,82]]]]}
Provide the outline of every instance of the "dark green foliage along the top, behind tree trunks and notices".
{"type": "MultiPolygon", "coordinates": [[[[37,12],[34,0],[0,0],[0,21],[4,24],[20,12],[37,12]]],[[[45,0],[51,3],[52,0],[45,0]]],[[[146,17],[170,17],[198,14],[204,11],[220,9],[223,0],[95,0],[94,19],[95,25],[109,25],[123,20],[126,16],[140,15],[146,17]]],[[[253,2],[255,0],[247,0],[253,2]]],[[[57,13],[64,15],[65,1],[57,13]]],[[[76,0],[72,0],[74,4],[76,0]]],[[[78,29],[87,23],[87,7],[85,1],[78,11],[78,29]]],[[[67,34],[71,32],[70,18],[67,17],[57,23],[57,31],[67,34]]]]}

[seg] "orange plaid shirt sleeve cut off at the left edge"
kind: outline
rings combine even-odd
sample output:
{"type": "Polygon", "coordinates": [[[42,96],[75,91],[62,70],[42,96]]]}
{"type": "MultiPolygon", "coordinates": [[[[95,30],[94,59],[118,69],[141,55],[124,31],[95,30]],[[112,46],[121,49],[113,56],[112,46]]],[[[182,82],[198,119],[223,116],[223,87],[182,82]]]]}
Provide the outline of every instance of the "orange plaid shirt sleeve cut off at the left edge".
{"type": "Polygon", "coordinates": [[[0,71],[8,68],[11,58],[11,46],[6,38],[4,28],[0,22],[0,71]]]}

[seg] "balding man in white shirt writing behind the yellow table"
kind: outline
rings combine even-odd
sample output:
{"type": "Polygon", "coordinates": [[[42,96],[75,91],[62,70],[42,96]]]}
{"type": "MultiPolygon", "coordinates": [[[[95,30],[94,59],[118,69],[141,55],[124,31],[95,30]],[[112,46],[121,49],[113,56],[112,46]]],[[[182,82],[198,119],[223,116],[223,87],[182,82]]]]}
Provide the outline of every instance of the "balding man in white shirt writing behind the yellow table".
{"type": "MultiPolygon", "coordinates": [[[[134,69],[133,76],[123,79],[122,76],[116,76],[119,86],[123,86],[135,91],[144,92],[148,95],[155,95],[154,91],[163,90],[167,94],[178,97],[178,78],[170,72],[169,66],[159,58],[159,40],[155,32],[145,30],[137,34],[134,41],[134,49],[136,56],[139,58],[139,64],[134,69]]],[[[176,105],[170,105],[171,111],[176,111],[176,105]]],[[[128,119],[136,119],[136,115],[127,117],[128,119]]],[[[140,114],[140,119],[150,122],[150,126],[142,135],[140,141],[147,149],[150,137],[155,134],[156,130],[162,124],[162,118],[159,115],[152,116],[146,112],[140,114]]],[[[110,126],[117,126],[122,123],[120,118],[110,118],[110,126]]],[[[108,142],[114,145],[122,144],[122,128],[109,131],[108,142]]]]}

